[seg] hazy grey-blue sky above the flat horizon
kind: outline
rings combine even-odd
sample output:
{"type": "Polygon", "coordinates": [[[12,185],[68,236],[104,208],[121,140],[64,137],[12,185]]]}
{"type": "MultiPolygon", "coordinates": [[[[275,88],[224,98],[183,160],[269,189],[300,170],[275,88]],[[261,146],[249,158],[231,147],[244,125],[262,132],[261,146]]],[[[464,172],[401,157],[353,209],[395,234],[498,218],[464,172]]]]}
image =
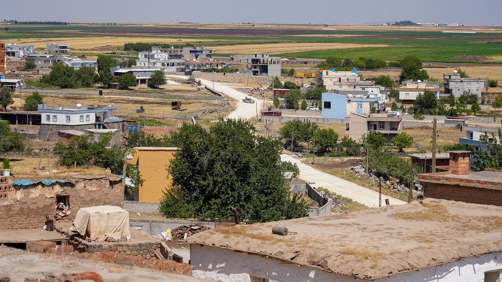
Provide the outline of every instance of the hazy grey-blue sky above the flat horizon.
{"type": "MultiPolygon", "coordinates": [[[[1,0],[1,3],[7,0],[1,0]]],[[[364,24],[410,20],[502,26],[501,0],[24,0],[0,20],[116,23],[364,24]]]]}

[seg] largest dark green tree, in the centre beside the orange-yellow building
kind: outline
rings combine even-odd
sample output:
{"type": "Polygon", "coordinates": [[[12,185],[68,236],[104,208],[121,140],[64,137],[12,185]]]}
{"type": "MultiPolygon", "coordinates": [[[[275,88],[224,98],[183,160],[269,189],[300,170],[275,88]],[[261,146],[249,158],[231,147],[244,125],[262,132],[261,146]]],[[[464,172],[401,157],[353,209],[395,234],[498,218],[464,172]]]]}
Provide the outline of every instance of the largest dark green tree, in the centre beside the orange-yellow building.
{"type": "Polygon", "coordinates": [[[160,212],[168,218],[221,220],[231,207],[249,222],[307,216],[304,201],[284,189],[281,143],[245,120],[220,119],[206,131],[184,123],[172,138],[179,151],[168,171],[173,188],[160,212]]]}

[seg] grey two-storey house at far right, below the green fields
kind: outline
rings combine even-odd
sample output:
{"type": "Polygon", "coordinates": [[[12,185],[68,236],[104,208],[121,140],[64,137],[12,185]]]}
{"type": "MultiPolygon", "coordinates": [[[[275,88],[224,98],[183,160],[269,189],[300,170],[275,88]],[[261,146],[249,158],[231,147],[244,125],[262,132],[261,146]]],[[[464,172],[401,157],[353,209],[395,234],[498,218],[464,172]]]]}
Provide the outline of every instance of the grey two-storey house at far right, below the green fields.
{"type": "Polygon", "coordinates": [[[453,74],[443,74],[444,93],[453,94],[455,97],[460,97],[464,91],[481,96],[481,90],[484,88],[484,79],[460,77],[457,70],[453,74]]]}

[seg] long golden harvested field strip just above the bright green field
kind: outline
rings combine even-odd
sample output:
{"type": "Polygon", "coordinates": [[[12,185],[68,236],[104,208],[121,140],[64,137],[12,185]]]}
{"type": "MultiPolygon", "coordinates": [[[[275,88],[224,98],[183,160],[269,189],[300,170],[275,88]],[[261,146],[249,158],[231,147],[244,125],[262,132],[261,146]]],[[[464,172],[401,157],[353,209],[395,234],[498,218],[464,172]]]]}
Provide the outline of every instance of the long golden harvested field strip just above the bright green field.
{"type": "Polygon", "coordinates": [[[258,53],[296,53],[314,50],[350,49],[363,47],[388,47],[389,45],[378,44],[344,44],[344,43],[277,43],[277,44],[253,44],[253,45],[230,45],[214,46],[213,52],[220,54],[258,54],[258,53]]]}

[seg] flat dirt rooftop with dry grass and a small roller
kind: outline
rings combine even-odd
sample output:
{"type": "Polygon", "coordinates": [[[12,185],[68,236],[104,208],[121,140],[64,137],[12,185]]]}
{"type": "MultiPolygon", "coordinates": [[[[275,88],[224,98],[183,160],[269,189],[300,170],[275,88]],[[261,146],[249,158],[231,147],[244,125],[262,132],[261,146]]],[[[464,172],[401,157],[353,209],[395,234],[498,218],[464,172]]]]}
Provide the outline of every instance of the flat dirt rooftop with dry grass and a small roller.
{"type": "Polygon", "coordinates": [[[501,213],[498,206],[427,198],[422,204],[221,227],[188,241],[377,279],[499,252],[501,213]],[[297,234],[275,235],[273,226],[297,234]]]}

